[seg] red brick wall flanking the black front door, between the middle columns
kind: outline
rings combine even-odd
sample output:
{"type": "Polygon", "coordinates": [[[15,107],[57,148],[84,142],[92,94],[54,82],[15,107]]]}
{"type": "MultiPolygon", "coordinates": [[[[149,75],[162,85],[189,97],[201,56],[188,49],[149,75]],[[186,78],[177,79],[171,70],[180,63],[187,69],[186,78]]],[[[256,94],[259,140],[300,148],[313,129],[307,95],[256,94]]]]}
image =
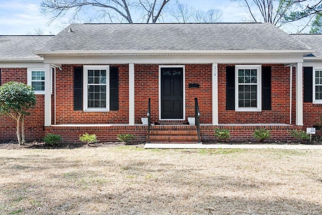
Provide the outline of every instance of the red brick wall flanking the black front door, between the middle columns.
{"type": "MultiPolygon", "coordinates": [[[[147,113],[147,101],[151,98],[151,121],[159,121],[159,74],[158,65],[135,64],[135,123],[147,113]]],[[[186,64],[186,119],[194,116],[195,101],[198,98],[201,123],[212,122],[212,64],[186,64]],[[189,88],[189,83],[200,84],[199,88],[189,88]]]]}

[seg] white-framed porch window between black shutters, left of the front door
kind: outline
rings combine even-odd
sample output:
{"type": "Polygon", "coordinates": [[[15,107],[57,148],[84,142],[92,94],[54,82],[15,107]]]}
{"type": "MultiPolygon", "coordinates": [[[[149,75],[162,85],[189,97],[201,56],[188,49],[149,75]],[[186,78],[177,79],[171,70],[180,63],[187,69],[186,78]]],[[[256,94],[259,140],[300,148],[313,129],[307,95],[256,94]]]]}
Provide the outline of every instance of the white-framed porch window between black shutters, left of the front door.
{"type": "Polygon", "coordinates": [[[84,66],[84,111],[109,111],[109,66],[84,66]]]}

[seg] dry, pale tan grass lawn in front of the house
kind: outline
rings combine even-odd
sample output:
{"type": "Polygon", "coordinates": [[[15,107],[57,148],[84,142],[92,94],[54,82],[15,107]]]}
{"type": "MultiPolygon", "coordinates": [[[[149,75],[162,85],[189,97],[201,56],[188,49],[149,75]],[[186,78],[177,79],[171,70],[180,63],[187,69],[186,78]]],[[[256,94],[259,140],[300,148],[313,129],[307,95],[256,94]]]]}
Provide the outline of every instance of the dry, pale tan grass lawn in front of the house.
{"type": "Polygon", "coordinates": [[[0,150],[0,214],[322,214],[322,150],[0,150]]]}

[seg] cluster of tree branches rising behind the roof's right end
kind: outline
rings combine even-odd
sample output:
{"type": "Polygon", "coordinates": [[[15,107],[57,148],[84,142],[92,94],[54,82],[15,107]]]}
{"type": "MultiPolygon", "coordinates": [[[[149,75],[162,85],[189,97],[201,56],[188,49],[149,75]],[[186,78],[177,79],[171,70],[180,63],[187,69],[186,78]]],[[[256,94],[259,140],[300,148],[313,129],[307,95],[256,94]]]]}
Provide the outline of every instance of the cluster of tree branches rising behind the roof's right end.
{"type": "Polygon", "coordinates": [[[285,24],[292,24],[297,27],[296,33],[300,33],[306,27],[312,25],[312,20],[316,20],[318,14],[322,11],[321,0],[231,1],[240,2],[241,6],[246,7],[250,14],[250,21],[272,23],[279,27],[285,24]]]}

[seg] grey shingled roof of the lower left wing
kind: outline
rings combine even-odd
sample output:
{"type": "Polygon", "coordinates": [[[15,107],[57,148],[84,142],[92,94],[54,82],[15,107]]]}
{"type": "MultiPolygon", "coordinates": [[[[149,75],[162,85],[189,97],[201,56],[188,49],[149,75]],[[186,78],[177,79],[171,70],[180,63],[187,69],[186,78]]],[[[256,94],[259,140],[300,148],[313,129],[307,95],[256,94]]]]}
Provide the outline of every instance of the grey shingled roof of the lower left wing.
{"type": "Polygon", "coordinates": [[[0,59],[37,59],[33,53],[53,36],[0,36],[0,59]]]}

